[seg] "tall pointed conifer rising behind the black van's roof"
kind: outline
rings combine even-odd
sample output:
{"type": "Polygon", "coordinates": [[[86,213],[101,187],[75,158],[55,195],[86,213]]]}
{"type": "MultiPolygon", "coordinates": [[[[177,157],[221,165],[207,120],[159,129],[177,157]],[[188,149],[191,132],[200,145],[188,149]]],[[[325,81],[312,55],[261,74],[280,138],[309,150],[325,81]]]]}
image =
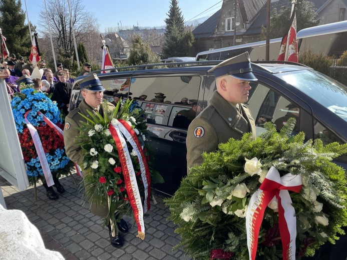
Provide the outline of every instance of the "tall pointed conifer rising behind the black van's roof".
{"type": "Polygon", "coordinates": [[[181,9],[178,7],[178,0],[171,0],[170,10],[165,19],[166,42],[162,49],[163,58],[173,56],[194,56],[194,36],[186,31],[184,18],[181,9]]]}

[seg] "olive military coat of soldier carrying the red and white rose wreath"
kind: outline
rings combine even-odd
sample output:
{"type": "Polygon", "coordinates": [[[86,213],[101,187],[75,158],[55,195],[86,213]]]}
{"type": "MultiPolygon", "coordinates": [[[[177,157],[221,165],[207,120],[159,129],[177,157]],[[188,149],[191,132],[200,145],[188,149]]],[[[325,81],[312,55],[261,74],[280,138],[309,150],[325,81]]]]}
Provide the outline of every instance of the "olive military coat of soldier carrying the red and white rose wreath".
{"type": "MultiPolygon", "coordinates": [[[[114,111],[115,106],[108,102],[110,111],[114,111]]],[[[66,117],[65,117],[65,127],[64,127],[64,142],[65,142],[65,150],[66,155],[75,163],[79,165],[83,165],[83,155],[80,154],[81,146],[77,145],[74,142],[75,137],[80,133],[80,130],[77,129],[77,127],[81,126],[81,121],[86,121],[86,119],[81,115],[90,116],[88,114],[88,111],[92,112],[94,115],[96,115],[96,111],[98,111],[101,115],[104,114],[103,109],[101,109],[101,106],[97,108],[93,108],[89,106],[85,100],[83,99],[76,109],[72,110],[66,117]],[[80,114],[81,113],[81,114],[80,114]]],[[[82,171],[83,175],[85,175],[85,172],[82,171]]],[[[108,207],[98,205],[96,203],[92,203],[92,201],[89,201],[90,203],[90,209],[93,214],[99,215],[101,217],[106,217],[108,214],[108,207]]]]}

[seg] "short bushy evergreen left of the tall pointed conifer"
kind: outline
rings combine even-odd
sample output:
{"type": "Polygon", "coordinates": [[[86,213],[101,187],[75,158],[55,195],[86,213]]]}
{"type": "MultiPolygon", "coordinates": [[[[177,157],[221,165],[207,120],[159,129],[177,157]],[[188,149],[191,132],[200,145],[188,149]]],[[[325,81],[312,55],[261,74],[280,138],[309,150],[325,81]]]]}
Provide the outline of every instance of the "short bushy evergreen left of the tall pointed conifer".
{"type": "Polygon", "coordinates": [[[132,48],[130,49],[130,54],[126,63],[128,65],[140,65],[158,62],[159,58],[151,50],[151,47],[147,43],[143,43],[139,35],[135,35],[132,40],[132,48]]]}

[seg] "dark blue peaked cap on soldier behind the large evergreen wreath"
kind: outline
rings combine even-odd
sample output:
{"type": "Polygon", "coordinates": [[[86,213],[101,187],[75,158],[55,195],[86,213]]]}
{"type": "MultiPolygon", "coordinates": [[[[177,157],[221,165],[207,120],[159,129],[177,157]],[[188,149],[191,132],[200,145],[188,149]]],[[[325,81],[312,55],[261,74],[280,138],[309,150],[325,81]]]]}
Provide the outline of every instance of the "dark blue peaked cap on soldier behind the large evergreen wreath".
{"type": "Polygon", "coordinates": [[[229,75],[241,80],[258,80],[252,73],[248,52],[244,52],[232,58],[220,62],[208,70],[214,71],[214,77],[229,75]]]}

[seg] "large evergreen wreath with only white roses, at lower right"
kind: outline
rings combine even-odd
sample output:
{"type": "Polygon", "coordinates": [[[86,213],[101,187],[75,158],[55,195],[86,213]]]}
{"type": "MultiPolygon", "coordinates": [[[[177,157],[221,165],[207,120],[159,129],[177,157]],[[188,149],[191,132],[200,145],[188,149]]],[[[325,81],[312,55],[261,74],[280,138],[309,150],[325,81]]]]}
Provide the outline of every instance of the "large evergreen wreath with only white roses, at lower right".
{"type": "MultiPolygon", "coordinates": [[[[300,175],[302,188],[290,192],[296,216],[297,259],[311,256],[324,242],[334,243],[347,225],[345,170],[331,160],[347,152],[347,144],[323,146],[320,139],[305,141],[292,135],[295,119],[280,132],[265,123],[255,140],[250,133],[230,139],[216,152],[203,153],[173,197],[165,199],[168,219],[178,224],[180,246],[194,259],[248,259],[246,212],[250,198],[273,166],[281,176],[300,175]]],[[[281,259],[278,202],[265,209],[256,248],[257,259],[281,259]]]]}

